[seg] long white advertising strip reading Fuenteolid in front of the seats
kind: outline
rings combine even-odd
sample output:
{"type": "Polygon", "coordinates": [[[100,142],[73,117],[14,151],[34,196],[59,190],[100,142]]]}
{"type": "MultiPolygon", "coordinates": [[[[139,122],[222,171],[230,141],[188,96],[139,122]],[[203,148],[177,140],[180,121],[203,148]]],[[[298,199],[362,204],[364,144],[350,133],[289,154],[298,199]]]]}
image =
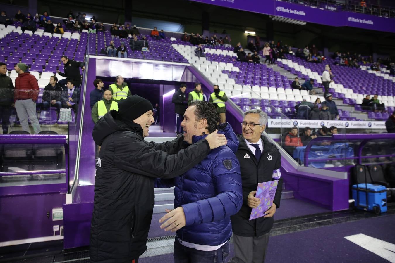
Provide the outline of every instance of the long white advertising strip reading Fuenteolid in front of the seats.
{"type": "Polygon", "coordinates": [[[321,128],[336,126],[339,129],[386,129],[385,121],[321,121],[317,119],[269,119],[268,128],[321,128]]]}

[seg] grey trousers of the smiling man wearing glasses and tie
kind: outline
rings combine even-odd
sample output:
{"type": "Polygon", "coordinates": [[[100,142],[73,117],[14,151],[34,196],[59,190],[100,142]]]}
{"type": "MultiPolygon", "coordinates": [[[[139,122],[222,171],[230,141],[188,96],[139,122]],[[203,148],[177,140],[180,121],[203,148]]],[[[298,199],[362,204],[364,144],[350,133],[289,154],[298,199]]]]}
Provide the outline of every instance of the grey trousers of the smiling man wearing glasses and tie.
{"type": "Polygon", "coordinates": [[[269,244],[269,234],[259,237],[242,237],[233,233],[235,257],[228,263],[263,263],[265,262],[266,249],[269,244]]]}

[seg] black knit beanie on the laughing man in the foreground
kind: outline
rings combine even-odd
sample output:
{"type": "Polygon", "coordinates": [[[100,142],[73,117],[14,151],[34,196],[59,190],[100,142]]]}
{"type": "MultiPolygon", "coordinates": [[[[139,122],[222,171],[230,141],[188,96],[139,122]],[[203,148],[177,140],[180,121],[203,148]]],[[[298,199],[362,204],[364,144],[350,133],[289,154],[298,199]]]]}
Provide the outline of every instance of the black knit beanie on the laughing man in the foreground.
{"type": "Polygon", "coordinates": [[[121,99],[119,101],[117,119],[126,122],[133,121],[149,110],[152,110],[153,112],[154,108],[147,99],[133,95],[132,97],[127,97],[126,99],[121,99]]]}

